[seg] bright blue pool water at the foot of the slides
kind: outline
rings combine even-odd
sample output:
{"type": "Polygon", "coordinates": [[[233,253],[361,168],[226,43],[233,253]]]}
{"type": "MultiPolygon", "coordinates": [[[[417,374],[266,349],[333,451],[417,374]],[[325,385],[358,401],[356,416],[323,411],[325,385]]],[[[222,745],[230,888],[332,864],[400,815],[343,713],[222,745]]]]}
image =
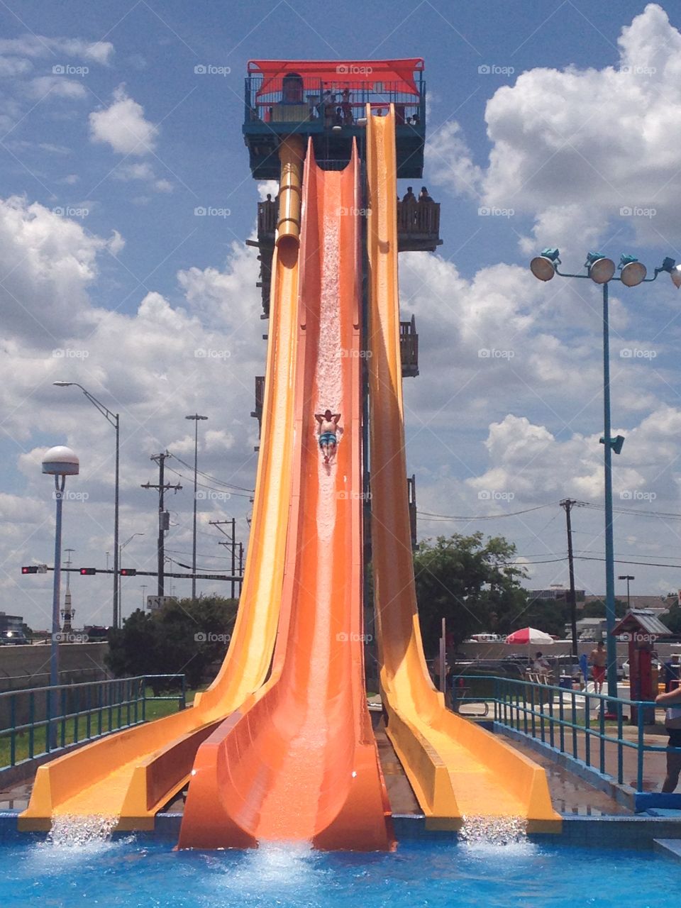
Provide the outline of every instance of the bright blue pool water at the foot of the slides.
{"type": "Polygon", "coordinates": [[[395,854],[268,845],[199,854],[131,835],[78,847],[0,847],[3,908],[659,908],[673,902],[680,876],[678,864],[656,854],[537,844],[417,841],[400,844],[395,854]]]}

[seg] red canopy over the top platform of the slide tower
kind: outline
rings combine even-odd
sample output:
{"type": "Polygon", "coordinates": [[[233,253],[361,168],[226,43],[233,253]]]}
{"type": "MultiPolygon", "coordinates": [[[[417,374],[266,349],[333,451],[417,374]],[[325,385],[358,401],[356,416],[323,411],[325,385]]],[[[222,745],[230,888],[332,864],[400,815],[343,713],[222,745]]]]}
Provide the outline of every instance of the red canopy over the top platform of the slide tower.
{"type": "Polygon", "coordinates": [[[423,70],[421,57],[409,60],[249,60],[249,74],[262,74],[258,94],[271,91],[271,84],[289,73],[302,76],[305,89],[314,90],[324,83],[374,84],[390,82],[394,92],[419,94],[414,73],[423,70]]]}

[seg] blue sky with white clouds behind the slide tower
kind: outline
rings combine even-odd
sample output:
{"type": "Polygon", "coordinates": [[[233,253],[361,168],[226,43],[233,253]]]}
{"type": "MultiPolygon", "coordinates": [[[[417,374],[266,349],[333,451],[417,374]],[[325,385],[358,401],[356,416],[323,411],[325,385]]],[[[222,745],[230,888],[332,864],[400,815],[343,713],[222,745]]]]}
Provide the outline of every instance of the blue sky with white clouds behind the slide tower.
{"type": "MultiPolygon", "coordinates": [[[[437,256],[400,259],[402,309],[416,313],[421,337],[421,375],[405,386],[408,458],[423,511],[486,519],[424,515],[419,532],[503,533],[527,556],[531,585],[567,579],[558,500],[602,495],[599,297],[587,281],[539,285],[527,263],[554,243],[571,271],[592,244],[616,260],[637,252],[651,273],[667,254],[681,261],[681,19],[672,5],[569,0],[386,9],[144,0],[2,7],[5,611],[47,623],[47,585],[36,580],[29,590],[17,576],[20,564],[50,559],[49,492],[37,466],[44,447],[67,442],[87,468],[79,482],[89,498],[67,515],[64,545],[97,565],[111,548],[113,433],[75,390],[55,390],[55,379],[79,380],[122,412],[121,535],[144,532],[128,549],[140,566],[153,562],[154,514],[139,486],[153,479],[149,457],[158,450],[191,459],[185,413],[211,416],[202,468],[252,488],[257,439],[248,414],[266,323],[257,262],[243,245],[259,196],[241,124],[246,62],[258,57],[425,58],[423,182],[442,202],[444,245],[437,256]],[[196,74],[199,64],[229,72],[196,74]],[[121,114],[138,137],[143,131],[142,145],[116,131],[121,114]],[[230,213],[195,217],[195,207],[209,205],[230,213]],[[480,213],[489,208],[507,215],[480,213]],[[222,354],[197,362],[197,348],[222,354]],[[496,353],[486,360],[480,350],[496,353]]],[[[675,294],[666,275],[613,291],[613,422],[627,435],[616,476],[622,508],[681,512],[675,294]]],[[[183,560],[187,489],[171,506],[168,548],[183,560]]],[[[236,516],[245,539],[248,508],[236,494],[202,502],[204,565],[216,569],[226,555],[208,521],[236,516]]],[[[676,518],[617,521],[622,558],[669,565],[618,572],[634,573],[642,593],[681,586],[672,567],[681,564],[676,518]]],[[[600,512],[584,508],[573,523],[584,552],[599,558],[600,512]]],[[[108,587],[78,582],[92,584],[74,589],[83,620],[104,621],[107,606],[93,597],[105,602],[108,587]]],[[[577,582],[601,592],[602,563],[581,561],[577,582]]],[[[141,594],[134,586],[126,595],[132,603],[141,594]]]]}

